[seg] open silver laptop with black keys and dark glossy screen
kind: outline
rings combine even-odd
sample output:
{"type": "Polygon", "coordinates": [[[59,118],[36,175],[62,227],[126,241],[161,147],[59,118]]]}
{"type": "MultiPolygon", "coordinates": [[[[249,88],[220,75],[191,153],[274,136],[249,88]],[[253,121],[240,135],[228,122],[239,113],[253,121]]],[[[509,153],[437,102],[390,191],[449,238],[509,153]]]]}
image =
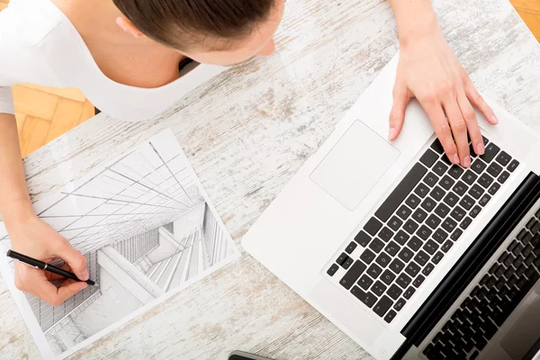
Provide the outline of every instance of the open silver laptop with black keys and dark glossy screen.
{"type": "Polygon", "coordinates": [[[540,137],[491,103],[452,166],[419,103],[387,140],[397,56],[243,247],[377,359],[522,359],[540,334],[540,137]]]}

